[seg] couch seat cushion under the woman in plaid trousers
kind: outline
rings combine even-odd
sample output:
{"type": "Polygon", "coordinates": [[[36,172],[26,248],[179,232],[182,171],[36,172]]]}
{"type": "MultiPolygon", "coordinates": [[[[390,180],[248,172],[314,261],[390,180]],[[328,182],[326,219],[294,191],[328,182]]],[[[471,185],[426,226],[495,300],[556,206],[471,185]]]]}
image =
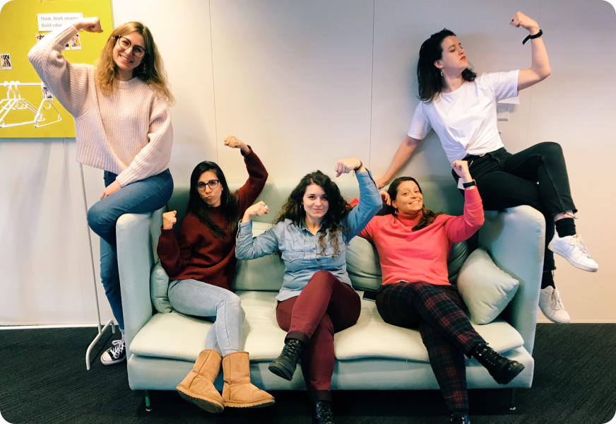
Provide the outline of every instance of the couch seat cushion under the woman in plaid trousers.
{"type": "MultiPolygon", "coordinates": [[[[523,339],[511,325],[503,320],[478,325],[471,321],[477,332],[497,352],[507,352],[523,346],[523,339]]],[[[336,358],[395,358],[430,362],[419,331],[387,324],[374,302],[362,300],[360,319],[354,326],[334,336],[336,358]]]]}

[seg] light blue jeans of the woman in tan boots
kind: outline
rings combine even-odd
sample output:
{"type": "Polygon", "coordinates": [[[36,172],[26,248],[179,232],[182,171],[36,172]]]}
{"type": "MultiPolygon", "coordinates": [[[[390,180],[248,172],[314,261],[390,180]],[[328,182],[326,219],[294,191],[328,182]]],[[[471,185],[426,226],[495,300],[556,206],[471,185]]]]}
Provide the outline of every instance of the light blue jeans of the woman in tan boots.
{"type": "Polygon", "coordinates": [[[169,285],[169,301],[182,314],[215,317],[206,337],[206,349],[223,356],[240,351],[244,309],[235,293],[201,281],[175,280],[169,285]]]}

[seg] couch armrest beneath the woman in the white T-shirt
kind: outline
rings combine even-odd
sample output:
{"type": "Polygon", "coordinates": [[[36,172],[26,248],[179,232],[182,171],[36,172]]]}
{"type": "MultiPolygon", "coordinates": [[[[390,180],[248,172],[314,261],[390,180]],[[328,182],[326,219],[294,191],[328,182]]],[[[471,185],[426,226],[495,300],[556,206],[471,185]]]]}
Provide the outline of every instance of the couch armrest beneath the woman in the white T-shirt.
{"type": "Polygon", "coordinates": [[[479,245],[490,252],[500,269],[520,282],[502,317],[521,334],[524,348],[532,355],[543,273],[545,218],[531,206],[486,211],[479,245]]]}

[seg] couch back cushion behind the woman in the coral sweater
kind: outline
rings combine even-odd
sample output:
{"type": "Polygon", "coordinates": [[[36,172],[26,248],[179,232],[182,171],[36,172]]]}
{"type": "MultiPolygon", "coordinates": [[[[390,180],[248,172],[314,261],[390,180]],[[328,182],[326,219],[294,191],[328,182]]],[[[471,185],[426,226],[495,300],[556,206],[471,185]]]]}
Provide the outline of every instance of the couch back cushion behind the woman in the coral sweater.
{"type": "MultiPolygon", "coordinates": [[[[456,243],[451,247],[447,259],[449,281],[456,283],[458,272],[468,257],[466,242],[456,243]]],[[[353,237],[346,253],[347,272],[355,290],[379,290],[382,274],[379,253],[372,242],[362,237],[353,237]]]]}

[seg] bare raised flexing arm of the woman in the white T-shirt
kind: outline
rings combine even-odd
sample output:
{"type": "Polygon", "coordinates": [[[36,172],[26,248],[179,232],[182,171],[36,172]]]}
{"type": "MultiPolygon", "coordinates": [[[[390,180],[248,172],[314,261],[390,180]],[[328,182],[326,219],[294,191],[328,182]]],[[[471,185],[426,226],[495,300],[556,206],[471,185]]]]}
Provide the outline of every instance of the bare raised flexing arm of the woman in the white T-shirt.
{"type": "MultiPolygon", "coordinates": [[[[539,32],[539,24],[521,12],[518,12],[511,18],[509,22],[516,28],[524,28],[531,35],[539,32]]],[[[543,44],[543,37],[533,38],[531,40],[532,61],[531,67],[521,69],[518,76],[518,91],[534,86],[536,83],[545,80],[552,70],[550,69],[550,61],[547,59],[547,51],[543,44]]]]}

